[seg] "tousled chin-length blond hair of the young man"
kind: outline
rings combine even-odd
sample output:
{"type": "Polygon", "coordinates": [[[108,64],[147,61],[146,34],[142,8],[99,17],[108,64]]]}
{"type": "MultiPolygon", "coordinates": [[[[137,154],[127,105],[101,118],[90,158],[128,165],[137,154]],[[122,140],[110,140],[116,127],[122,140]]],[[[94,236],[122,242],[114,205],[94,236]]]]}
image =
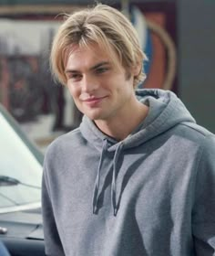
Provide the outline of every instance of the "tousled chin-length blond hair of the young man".
{"type": "Polygon", "coordinates": [[[128,72],[141,66],[138,76],[134,77],[134,86],[145,79],[142,65],[147,57],[139,45],[137,31],[117,9],[97,4],[67,15],[59,27],[50,55],[51,71],[57,80],[67,84],[65,65],[71,46],[87,47],[92,43],[105,48],[110,59],[115,64],[119,60],[128,72]]]}

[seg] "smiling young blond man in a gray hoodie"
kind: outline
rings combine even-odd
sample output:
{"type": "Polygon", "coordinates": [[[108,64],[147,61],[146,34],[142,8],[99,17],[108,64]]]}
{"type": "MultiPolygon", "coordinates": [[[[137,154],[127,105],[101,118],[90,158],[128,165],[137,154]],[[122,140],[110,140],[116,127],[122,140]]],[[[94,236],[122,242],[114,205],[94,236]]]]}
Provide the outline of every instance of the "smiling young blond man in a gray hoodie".
{"type": "Polygon", "coordinates": [[[215,137],[174,93],[134,90],[144,59],[107,5],[56,34],[53,73],[84,117],[46,151],[47,255],[215,255],[215,137]]]}

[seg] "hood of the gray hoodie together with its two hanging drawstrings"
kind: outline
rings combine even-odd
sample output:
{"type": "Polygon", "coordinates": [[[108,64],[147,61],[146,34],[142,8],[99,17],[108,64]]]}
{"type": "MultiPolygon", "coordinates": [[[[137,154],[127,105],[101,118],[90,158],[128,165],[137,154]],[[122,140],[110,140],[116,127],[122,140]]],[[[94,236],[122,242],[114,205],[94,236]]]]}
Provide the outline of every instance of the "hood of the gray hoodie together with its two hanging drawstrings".
{"type": "MultiPolygon", "coordinates": [[[[172,91],[163,90],[137,90],[136,96],[138,101],[148,105],[148,116],[141,123],[133,133],[130,133],[123,141],[116,141],[115,139],[102,133],[93,121],[89,120],[87,116],[84,116],[80,125],[80,131],[85,139],[93,144],[95,149],[100,153],[100,160],[97,164],[97,179],[95,181],[95,189],[93,193],[93,212],[97,212],[98,198],[102,193],[104,182],[101,182],[101,169],[103,166],[103,160],[105,158],[106,151],[114,152],[113,158],[113,173],[112,173],[112,205],[114,215],[118,212],[118,197],[116,194],[116,179],[118,168],[118,157],[122,150],[137,147],[139,144],[144,144],[151,138],[158,136],[161,133],[166,132],[173,126],[189,122],[195,123],[195,120],[190,115],[182,101],[172,91]]],[[[120,171],[120,170],[119,170],[120,171]]],[[[103,179],[104,180],[104,179],[103,179]]],[[[120,193],[119,193],[120,194],[120,193]]],[[[120,197],[120,195],[119,195],[120,197]]]]}

